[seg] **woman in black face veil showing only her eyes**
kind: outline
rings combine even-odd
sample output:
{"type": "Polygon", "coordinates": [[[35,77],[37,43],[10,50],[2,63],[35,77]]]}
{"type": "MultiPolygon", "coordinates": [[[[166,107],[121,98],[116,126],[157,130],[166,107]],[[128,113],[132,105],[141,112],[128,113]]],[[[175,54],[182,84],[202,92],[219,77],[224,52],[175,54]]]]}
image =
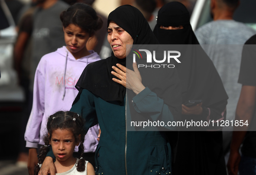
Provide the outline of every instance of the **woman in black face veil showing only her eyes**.
{"type": "MultiPolygon", "coordinates": [[[[214,123],[225,120],[226,91],[214,64],[199,45],[189,19],[183,4],[167,3],[159,10],[154,29],[160,44],[182,45],[181,64],[175,66],[181,80],[183,104],[188,100],[202,100],[193,107],[182,105],[181,119],[214,123]]],[[[178,142],[172,144],[176,145],[173,175],[226,175],[222,131],[178,131],[178,142]]]]}

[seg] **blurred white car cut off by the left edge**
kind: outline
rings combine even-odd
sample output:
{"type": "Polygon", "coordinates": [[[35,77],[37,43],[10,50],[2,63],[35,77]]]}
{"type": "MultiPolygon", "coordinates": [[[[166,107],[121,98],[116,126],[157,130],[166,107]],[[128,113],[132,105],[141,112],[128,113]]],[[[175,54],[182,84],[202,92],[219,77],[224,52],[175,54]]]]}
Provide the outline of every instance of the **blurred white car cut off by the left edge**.
{"type": "Polygon", "coordinates": [[[0,102],[22,102],[23,89],[18,85],[17,73],[13,69],[13,44],[17,33],[4,0],[0,0],[0,19],[0,102]]]}

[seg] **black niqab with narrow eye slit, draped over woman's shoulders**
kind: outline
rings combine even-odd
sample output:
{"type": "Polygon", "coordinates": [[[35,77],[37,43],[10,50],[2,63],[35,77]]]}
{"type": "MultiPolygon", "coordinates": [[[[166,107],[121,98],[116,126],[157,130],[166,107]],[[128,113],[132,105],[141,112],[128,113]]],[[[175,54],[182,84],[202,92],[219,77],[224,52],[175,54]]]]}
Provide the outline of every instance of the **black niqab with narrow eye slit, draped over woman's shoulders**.
{"type": "Polygon", "coordinates": [[[194,35],[189,18],[189,12],[182,3],[167,3],[159,10],[154,34],[160,44],[183,45],[181,64],[174,63],[182,84],[182,101],[201,99],[204,106],[211,106],[228,97],[214,64],[194,35]],[[166,30],[160,29],[160,25],[185,27],[166,30]]]}

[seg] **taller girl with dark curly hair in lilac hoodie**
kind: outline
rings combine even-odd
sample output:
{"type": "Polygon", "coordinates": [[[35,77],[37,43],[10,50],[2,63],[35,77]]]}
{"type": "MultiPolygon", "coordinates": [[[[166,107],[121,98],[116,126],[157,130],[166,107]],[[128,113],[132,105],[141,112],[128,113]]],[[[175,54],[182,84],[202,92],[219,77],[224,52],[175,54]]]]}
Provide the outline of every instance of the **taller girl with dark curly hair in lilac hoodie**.
{"type": "MultiPolygon", "coordinates": [[[[33,106],[27,123],[25,140],[29,147],[29,175],[33,175],[38,163],[37,148],[44,145],[43,135],[47,118],[56,111],[68,111],[78,94],[75,89],[84,67],[100,60],[100,56],[87,50],[86,43],[95,31],[102,27],[102,20],[95,10],[86,4],[75,3],[60,16],[63,24],[66,46],[44,55],[36,69],[33,106]]],[[[98,125],[91,127],[84,141],[85,156],[94,163],[94,154],[98,144],[98,125]]],[[[78,148],[75,148],[78,152],[78,148]]]]}

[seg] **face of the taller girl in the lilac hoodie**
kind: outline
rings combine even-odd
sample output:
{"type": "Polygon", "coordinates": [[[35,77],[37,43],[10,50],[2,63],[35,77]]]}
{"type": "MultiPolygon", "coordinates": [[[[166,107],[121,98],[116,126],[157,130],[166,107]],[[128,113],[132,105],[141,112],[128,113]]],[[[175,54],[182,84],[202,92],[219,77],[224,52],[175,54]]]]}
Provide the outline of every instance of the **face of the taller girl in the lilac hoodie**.
{"type": "Polygon", "coordinates": [[[68,51],[70,51],[74,57],[86,56],[86,43],[90,38],[89,34],[74,24],[70,24],[66,28],[63,27],[63,30],[68,51]]]}

